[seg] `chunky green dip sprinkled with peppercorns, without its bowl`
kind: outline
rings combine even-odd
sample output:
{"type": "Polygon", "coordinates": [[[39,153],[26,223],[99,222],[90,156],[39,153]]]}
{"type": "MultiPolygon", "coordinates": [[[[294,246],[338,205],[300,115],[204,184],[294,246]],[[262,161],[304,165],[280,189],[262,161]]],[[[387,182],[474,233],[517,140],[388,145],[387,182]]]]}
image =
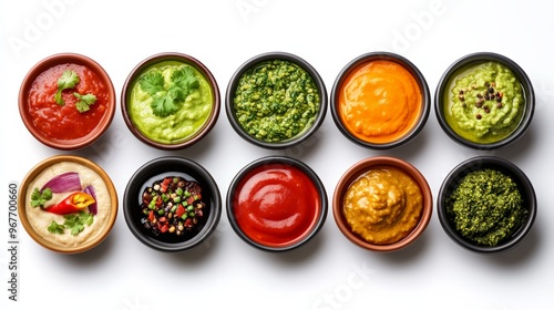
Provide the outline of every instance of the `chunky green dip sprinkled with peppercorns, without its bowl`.
{"type": "Polygon", "coordinates": [[[499,142],[520,124],[525,97],[505,65],[485,62],[463,68],[445,92],[445,117],[462,137],[481,144],[499,142]]]}

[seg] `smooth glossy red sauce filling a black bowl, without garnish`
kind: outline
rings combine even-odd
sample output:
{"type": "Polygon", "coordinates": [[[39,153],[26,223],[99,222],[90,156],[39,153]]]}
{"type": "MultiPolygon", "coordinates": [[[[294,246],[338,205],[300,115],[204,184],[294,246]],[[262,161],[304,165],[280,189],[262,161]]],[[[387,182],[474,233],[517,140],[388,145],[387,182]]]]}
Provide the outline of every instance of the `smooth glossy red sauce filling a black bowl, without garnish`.
{"type": "Polygon", "coordinates": [[[302,170],[269,164],[250,170],[239,183],[234,213],[250,239],[264,246],[285,247],[312,230],[320,204],[314,182],[302,170]]]}

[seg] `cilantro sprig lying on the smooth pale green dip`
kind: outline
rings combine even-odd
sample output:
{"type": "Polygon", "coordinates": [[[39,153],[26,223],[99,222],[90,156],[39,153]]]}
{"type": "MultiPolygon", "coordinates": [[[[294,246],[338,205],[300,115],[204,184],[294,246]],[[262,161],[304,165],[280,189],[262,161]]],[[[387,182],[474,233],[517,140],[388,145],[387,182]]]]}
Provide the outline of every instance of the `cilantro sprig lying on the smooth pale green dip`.
{"type": "Polygon", "coordinates": [[[151,71],[138,79],[142,90],[152,96],[152,112],[160,117],[175,114],[192,90],[199,87],[198,78],[188,66],[174,71],[166,86],[162,73],[151,71]]]}

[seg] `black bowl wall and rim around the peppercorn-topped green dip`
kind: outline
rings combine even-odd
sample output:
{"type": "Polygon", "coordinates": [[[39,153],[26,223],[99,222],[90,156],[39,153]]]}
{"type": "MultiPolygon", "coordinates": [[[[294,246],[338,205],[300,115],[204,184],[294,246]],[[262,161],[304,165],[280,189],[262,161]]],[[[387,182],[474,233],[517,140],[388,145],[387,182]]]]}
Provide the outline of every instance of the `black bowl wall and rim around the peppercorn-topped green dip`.
{"type": "MultiPolygon", "coordinates": [[[[494,105],[496,104],[496,102],[494,101],[492,101],[492,103],[485,102],[483,106],[488,106],[488,104],[494,105]]],[[[531,125],[534,110],[535,110],[535,94],[533,91],[533,84],[531,83],[531,80],[527,78],[527,74],[525,74],[525,71],[523,71],[523,69],[511,59],[491,52],[472,53],[456,60],[447,69],[447,71],[440,79],[434,94],[434,112],[437,114],[437,120],[439,121],[439,124],[441,125],[444,133],[452,141],[475,149],[496,149],[507,146],[520,140],[526,133],[527,128],[531,125]],[[456,125],[454,125],[455,123],[449,121],[448,117],[449,104],[451,100],[447,97],[449,95],[452,95],[450,92],[453,87],[454,79],[461,74],[464,74],[464,71],[466,71],[468,68],[480,65],[485,62],[497,62],[509,68],[515,75],[515,78],[519,80],[521,87],[523,90],[523,95],[525,101],[523,106],[521,107],[522,110],[521,115],[517,116],[520,121],[516,124],[516,127],[513,128],[513,131],[507,136],[497,141],[470,140],[465,137],[464,134],[460,132],[460,128],[456,125]]],[[[480,114],[486,112],[480,112],[480,114]]]]}

